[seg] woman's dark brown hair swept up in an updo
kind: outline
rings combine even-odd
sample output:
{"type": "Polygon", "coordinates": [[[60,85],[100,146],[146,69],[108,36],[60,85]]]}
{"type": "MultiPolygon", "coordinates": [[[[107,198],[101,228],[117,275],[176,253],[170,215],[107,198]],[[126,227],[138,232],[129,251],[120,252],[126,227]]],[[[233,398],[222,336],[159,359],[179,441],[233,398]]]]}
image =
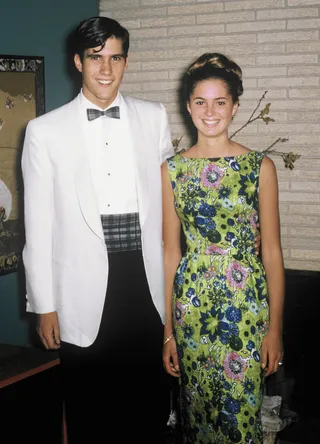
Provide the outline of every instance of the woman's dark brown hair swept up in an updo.
{"type": "Polygon", "coordinates": [[[185,95],[187,102],[199,82],[223,80],[233,103],[239,102],[243,94],[242,70],[233,60],[217,52],[206,52],[192,63],[186,73],[185,95]]]}

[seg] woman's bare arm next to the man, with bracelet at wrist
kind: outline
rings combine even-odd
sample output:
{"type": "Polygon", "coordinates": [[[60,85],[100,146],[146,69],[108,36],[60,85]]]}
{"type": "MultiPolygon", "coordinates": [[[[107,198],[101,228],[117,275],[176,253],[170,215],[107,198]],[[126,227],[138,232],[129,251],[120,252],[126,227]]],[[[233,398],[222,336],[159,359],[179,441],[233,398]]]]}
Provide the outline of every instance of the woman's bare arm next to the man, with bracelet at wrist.
{"type": "Polygon", "coordinates": [[[164,327],[163,364],[172,376],[180,376],[176,342],[172,327],[172,292],[173,282],[181,260],[180,230],[181,224],[174,206],[174,196],[168,174],[167,163],[161,167],[162,175],[162,212],[164,275],[166,293],[166,323],[164,327]]]}

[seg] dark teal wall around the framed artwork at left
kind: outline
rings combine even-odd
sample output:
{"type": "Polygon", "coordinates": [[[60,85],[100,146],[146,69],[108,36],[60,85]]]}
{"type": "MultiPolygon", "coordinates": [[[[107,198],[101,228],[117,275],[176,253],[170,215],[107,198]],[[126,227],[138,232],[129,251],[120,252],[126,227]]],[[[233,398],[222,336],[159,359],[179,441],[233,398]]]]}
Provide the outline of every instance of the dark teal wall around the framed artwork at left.
{"type": "MultiPolygon", "coordinates": [[[[65,40],[79,21],[94,15],[98,0],[0,0],[0,55],[45,57],[46,111],[74,97],[65,40]]],[[[34,317],[24,307],[23,279],[18,273],[0,277],[0,342],[32,343],[34,317]]]]}

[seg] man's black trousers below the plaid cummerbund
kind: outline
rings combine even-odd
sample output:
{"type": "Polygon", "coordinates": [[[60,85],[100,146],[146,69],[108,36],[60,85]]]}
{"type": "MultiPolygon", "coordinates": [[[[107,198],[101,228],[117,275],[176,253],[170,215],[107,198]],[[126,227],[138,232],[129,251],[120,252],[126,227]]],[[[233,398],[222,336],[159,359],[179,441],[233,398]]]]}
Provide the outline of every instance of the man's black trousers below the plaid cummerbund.
{"type": "Polygon", "coordinates": [[[110,254],[96,341],[61,347],[68,444],[163,442],[171,378],[163,369],[162,343],[141,251],[110,254]]]}

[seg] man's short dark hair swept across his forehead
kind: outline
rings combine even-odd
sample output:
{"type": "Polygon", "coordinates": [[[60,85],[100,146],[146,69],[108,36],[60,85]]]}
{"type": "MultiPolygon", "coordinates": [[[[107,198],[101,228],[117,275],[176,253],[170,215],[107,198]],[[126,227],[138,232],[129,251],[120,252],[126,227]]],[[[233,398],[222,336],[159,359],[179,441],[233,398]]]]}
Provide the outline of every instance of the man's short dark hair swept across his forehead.
{"type": "MultiPolygon", "coordinates": [[[[129,32],[119,22],[108,17],[91,17],[83,20],[72,34],[72,52],[83,60],[84,51],[105,45],[109,38],[122,42],[123,55],[128,56],[129,32]]],[[[102,49],[101,48],[101,49],[102,49]]]]}

